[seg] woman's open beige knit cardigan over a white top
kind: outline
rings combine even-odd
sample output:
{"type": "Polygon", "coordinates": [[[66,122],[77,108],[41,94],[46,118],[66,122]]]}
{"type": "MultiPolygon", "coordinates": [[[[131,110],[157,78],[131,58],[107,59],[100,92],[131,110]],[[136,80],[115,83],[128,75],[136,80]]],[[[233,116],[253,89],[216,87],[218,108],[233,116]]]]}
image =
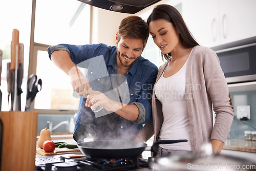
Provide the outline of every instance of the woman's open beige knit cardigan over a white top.
{"type": "MultiPolygon", "coordinates": [[[[167,64],[168,62],[165,62],[159,68],[156,81],[163,74],[167,64]]],[[[146,123],[138,134],[145,142],[154,134],[154,142],[158,139],[163,123],[162,105],[156,98],[154,90],[153,120],[146,123]]],[[[219,58],[209,48],[195,46],[191,51],[186,68],[186,100],[192,150],[197,151],[203,142],[209,142],[211,139],[225,143],[233,121],[233,107],[230,104],[227,82],[219,58]],[[216,113],[215,124],[212,107],[216,113]]]]}

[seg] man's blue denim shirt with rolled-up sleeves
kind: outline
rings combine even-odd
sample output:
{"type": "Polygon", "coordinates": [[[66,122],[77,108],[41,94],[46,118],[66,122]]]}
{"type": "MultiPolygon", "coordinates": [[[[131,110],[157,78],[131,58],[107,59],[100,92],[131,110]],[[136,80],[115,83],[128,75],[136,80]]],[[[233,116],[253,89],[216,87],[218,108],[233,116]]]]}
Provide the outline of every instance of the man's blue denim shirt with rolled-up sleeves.
{"type": "MultiPolygon", "coordinates": [[[[89,79],[90,86],[93,87],[93,90],[98,90],[102,93],[108,92],[113,89],[113,87],[110,86],[109,82],[111,81],[109,80],[120,80],[119,77],[116,77],[117,62],[115,46],[111,47],[104,44],[79,46],[60,44],[48,48],[49,57],[51,58],[53,51],[63,50],[61,47],[67,48],[66,51],[70,53],[71,60],[77,67],[88,69],[86,77],[89,79]],[[58,47],[60,47],[60,49],[58,47]],[[98,78],[98,76],[95,75],[97,72],[99,73],[100,70],[96,66],[97,63],[83,63],[83,61],[101,55],[103,56],[109,77],[98,78]],[[83,65],[80,65],[81,63],[83,63],[83,65]],[[102,89],[102,87],[104,89],[102,89]]],[[[139,59],[132,64],[129,71],[123,75],[122,79],[125,79],[124,81],[128,84],[129,88],[129,94],[126,96],[130,96],[130,101],[126,103],[136,104],[140,113],[144,113],[143,118],[137,121],[124,119],[114,112],[95,117],[96,113],[94,114],[90,108],[84,105],[86,98],[81,97],[73,134],[74,140],[83,142],[83,139],[88,137],[89,133],[94,137],[94,140],[133,140],[142,129],[143,124],[152,119],[151,100],[157,73],[157,67],[149,60],[140,56],[139,59]]],[[[103,109],[100,112],[104,113],[106,110],[103,109]]]]}

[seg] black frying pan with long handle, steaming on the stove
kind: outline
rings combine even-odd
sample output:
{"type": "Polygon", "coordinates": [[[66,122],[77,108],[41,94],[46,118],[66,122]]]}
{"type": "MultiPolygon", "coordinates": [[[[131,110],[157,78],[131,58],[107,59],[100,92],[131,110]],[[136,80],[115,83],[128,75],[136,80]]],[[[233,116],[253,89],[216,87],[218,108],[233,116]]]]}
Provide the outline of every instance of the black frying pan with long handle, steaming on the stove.
{"type": "MultiPolygon", "coordinates": [[[[178,142],[187,142],[187,140],[156,141],[151,147],[151,152],[156,152],[158,144],[172,144],[178,142]]],[[[147,144],[135,141],[110,140],[81,142],[78,143],[77,146],[82,154],[92,158],[120,159],[140,156],[147,147],[147,144]]]]}

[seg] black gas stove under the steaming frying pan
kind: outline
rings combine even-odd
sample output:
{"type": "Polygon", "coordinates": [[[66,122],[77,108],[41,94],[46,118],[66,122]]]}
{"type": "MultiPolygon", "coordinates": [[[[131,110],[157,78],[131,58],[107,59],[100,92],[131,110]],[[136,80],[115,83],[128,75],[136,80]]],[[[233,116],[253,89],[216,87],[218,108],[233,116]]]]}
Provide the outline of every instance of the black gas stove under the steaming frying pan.
{"type": "Polygon", "coordinates": [[[96,159],[90,157],[70,158],[66,155],[36,157],[36,171],[119,171],[119,170],[152,170],[146,159],[124,158],[124,159],[96,159]]]}

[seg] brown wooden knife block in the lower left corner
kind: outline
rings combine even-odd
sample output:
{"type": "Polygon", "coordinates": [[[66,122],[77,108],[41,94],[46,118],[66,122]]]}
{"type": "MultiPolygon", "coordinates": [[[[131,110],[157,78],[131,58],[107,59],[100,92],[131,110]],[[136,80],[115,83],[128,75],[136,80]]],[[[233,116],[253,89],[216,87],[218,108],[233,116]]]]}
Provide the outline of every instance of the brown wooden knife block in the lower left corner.
{"type": "Polygon", "coordinates": [[[35,170],[37,113],[0,112],[3,122],[1,170],[35,170]]]}

